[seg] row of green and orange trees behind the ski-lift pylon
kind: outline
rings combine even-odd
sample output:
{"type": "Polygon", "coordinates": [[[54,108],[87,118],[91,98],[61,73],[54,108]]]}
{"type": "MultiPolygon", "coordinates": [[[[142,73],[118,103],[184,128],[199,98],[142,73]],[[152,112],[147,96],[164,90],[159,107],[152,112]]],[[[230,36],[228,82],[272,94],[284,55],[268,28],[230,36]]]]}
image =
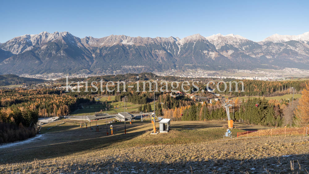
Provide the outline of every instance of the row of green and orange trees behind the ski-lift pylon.
{"type": "MultiPolygon", "coordinates": [[[[233,102],[227,100],[226,103],[233,106],[229,107],[230,117],[236,122],[245,124],[255,124],[264,126],[281,126],[282,109],[288,105],[288,101],[266,100],[265,98],[253,98],[246,102],[238,98],[233,102]],[[259,104],[256,107],[255,104],[259,104]]],[[[163,109],[165,118],[174,121],[204,121],[204,120],[227,120],[226,108],[220,102],[216,104],[197,103],[180,108],[163,109]]]]}

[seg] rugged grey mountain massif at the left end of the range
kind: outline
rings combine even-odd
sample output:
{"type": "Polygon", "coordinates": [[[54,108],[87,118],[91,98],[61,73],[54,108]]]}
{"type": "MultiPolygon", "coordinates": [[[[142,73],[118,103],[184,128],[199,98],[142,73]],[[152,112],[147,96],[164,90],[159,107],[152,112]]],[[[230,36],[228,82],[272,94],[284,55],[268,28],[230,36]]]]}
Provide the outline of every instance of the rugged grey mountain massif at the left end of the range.
{"type": "Polygon", "coordinates": [[[16,53],[0,63],[2,74],[89,72],[94,62],[81,40],[69,32],[19,36],[0,47],[16,53]]]}

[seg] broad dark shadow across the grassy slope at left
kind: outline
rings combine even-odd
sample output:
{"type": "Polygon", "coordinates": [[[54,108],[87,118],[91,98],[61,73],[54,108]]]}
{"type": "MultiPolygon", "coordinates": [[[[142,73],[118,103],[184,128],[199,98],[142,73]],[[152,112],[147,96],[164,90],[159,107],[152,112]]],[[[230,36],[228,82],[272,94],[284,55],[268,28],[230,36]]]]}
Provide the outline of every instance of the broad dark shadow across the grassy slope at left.
{"type": "MultiPolygon", "coordinates": [[[[141,123],[133,122],[131,125],[127,123],[127,134],[124,134],[125,126],[123,122],[113,123],[113,133],[116,135],[112,136],[109,127],[111,124],[108,124],[107,129],[109,135],[106,135],[106,125],[100,125],[99,132],[96,132],[95,128],[92,130],[89,128],[70,130],[78,127],[74,125],[66,126],[66,128],[62,130],[52,130],[52,128],[50,130],[54,132],[44,134],[46,136],[43,136],[44,139],[40,140],[44,142],[43,144],[33,142],[31,144],[16,146],[14,149],[1,149],[1,156],[6,157],[6,160],[2,160],[0,163],[12,163],[33,159],[49,159],[71,155],[82,151],[97,151],[104,147],[113,146],[115,143],[125,142],[136,136],[142,135],[146,132],[145,130],[137,132],[133,131],[149,126],[149,122],[146,121],[141,123]]],[[[44,129],[47,128],[48,127],[44,127],[44,129]]]]}

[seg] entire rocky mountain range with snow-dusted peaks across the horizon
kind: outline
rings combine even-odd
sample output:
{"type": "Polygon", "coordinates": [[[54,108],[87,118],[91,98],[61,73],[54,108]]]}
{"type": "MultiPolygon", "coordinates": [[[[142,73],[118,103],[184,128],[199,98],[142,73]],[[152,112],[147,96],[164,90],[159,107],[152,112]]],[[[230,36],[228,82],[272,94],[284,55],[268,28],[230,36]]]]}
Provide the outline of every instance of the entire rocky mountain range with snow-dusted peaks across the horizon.
{"type": "Polygon", "coordinates": [[[41,32],[0,44],[0,74],[149,72],[170,69],[309,69],[309,32],[272,35],[260,42],[242,36],[78,38],[41,32]]]}

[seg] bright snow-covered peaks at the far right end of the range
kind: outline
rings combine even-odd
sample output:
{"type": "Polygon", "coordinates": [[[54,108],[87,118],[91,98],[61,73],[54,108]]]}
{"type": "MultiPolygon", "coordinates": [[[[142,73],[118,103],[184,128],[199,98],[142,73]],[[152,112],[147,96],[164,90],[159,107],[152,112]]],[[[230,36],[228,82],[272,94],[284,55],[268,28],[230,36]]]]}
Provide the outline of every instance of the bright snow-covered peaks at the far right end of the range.
{"type": "Polygon", "coordinates": [[[268,42],[273,42],[273,43],[276,43],[276,42],[287,42],[287,41],[290,41],[290,40],[297,40],[297,41],[301,41],[301,42],[304,42],[304,43],[307,43],[309,42],[309,32],[305,32],[303,34],[300,34],[300,35],[278,35],[278,34],[274,34],[272,36],[269,36],[267,38],[265,38],[264,40],[258,42],[260,44],[265,44],[265,43],[268,43],[268,42]]]}

